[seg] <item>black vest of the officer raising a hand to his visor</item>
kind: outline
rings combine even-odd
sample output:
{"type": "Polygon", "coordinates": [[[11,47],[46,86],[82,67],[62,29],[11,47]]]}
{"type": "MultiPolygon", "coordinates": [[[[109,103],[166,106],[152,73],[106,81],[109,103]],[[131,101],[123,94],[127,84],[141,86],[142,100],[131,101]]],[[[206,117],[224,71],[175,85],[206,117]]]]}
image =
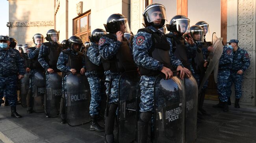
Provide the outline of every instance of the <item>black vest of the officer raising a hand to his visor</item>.
{"type": "MultiPolygon", "coordinates": [[[[108,38],[117,41],[117,38],[113,34],[107,34],[108,38]]],[[[132,52],[125,38],[122,39],[122,45],[117,51],[117,54],[109,59],[102,59],[104,71],[111,72],[124,72],[124,71],[135,71],[137,69],[135,62],[132,58],[132,52]]]]}

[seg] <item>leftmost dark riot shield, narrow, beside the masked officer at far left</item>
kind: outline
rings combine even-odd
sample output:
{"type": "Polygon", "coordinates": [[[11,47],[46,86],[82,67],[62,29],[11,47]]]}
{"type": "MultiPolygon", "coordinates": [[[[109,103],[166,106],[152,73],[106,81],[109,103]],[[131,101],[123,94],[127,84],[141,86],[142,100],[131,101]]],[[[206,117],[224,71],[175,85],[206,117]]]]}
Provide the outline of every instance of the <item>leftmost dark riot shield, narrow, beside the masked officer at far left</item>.
{"type": "Polygon", "coordinates": [[[20,80],[20,101],[22,107],[28,107],[27,95],[29,88],[29,73],[25,73],[24,77],[20,80]]]}

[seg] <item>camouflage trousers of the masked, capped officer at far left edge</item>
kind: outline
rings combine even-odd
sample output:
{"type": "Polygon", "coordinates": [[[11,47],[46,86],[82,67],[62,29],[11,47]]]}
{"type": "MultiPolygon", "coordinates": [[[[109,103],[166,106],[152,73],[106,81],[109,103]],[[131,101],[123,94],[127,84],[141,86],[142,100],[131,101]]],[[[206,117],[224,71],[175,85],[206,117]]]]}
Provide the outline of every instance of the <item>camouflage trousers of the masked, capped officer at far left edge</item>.
{"type": "Polygon", "coordinates": [[[16,106],[17,102],[17,75],[0,76],[0,103],[5,96],[10,106],[16,106]]]}

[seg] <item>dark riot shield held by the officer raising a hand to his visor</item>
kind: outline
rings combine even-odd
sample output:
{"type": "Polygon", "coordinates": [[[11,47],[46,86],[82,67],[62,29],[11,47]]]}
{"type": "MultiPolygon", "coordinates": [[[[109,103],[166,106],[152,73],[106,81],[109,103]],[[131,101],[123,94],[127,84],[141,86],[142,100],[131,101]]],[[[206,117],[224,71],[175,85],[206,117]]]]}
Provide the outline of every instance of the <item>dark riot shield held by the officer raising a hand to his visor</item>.
{"type": "Polygon", "coordinates": [[[140,76],[137,71],[126,71],[119,78],[118,142],[131,143],[136,138],[137,91],[140,76]]]}

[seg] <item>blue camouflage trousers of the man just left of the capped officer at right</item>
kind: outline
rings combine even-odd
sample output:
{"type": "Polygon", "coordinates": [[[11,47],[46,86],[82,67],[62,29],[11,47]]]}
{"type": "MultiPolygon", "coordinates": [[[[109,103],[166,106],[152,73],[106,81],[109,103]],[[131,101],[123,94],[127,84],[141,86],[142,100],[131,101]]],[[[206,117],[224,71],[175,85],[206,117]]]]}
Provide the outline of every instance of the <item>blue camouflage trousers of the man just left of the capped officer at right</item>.
{"type": "Polygon", "coordinates": [[[218,73],[218,82],[217,82],[217,91],[219,94],[219,100],[221,102],[227,102],[228,97],[231,94],[230,85],[230,69],[219,69],[218,73]]]}

